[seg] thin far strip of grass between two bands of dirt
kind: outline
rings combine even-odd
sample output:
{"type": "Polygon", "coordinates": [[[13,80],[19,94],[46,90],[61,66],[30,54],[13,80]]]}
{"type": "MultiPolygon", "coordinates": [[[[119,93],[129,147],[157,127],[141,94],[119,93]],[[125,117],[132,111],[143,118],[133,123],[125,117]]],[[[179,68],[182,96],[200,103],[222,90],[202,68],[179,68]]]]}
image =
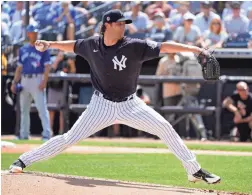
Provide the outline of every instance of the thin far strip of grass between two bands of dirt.
{"type": "MultiPolygon", "coordinates": [[[[4,140],[8,141],[8,140],[4,140]]],[[[12,140],[16,144],[42,144],[40,140],[12,140]]],[[[134,147],[134,148],[167,148],[162,143],[118,143],[118,142],[96,142],[96,141],[82,141],[78,145],[83,146],[111,146],[111,147],[134,147]]],[[[217,151],[240,151],[252,152],[251,146],[235,146],[235,145],[206,145],[206,144],[187,144],[191,150],[217,150],[217,151]]]]}

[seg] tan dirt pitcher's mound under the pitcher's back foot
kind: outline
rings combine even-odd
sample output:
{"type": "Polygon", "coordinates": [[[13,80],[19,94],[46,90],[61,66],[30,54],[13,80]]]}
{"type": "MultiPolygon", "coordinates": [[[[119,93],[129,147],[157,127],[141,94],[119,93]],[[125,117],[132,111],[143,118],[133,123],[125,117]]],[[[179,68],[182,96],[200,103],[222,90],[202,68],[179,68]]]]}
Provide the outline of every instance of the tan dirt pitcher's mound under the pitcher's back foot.
{"type": "Polygon", "coordinates": [[[194,189],[34,172],[2,171],[1,179],[2,195],[213,195],[194,189]]]}

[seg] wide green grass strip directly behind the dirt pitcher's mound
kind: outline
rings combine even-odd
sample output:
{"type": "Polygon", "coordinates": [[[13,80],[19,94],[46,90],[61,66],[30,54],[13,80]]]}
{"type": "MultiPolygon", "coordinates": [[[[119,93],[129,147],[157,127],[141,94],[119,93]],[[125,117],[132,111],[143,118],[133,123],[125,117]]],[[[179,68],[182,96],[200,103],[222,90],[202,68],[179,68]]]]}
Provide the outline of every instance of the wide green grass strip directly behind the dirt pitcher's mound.
{"type": "MultiPolygon", "coordinates": [[[[2,154],[1,169],[8,169],[18,156],[2,154]]],[[[252,157],[198,155],[197,158],[202,167],[222,177],[220,184],[189,183],[182,165],[171,154],[60,154],[26,170],[252,193],[252,157]]]]}

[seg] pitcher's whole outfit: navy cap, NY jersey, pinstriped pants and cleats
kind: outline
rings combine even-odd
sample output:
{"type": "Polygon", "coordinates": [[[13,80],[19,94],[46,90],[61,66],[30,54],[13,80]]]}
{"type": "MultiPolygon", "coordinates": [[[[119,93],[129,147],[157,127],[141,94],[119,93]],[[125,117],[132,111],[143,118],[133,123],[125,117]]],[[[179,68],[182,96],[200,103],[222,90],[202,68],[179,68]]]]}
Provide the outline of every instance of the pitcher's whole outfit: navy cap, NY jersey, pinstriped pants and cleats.
{"type": "MultiPolygon", "coordinates": [[[[120,10],[111,10],[103,16],[103,23],[117,21],[126,24],[132,22],[125,19],[120,10]]],[[[77,40],[74,52],[89,62],[92,84],[96,89],[90,104],[67,133],[24,153],[10,170],[22,171],[24,167],[51,158],[97,131],[119,122],[160,137],[182,162],[189,181],[220,181],[220,177],[201,169],[195,155],[188,150],[170,123],[136,96],[142,63],[158,57],[160,48],[161,43],[127,37],[112,46],[104,44],[103,35],[77,40]]]]}

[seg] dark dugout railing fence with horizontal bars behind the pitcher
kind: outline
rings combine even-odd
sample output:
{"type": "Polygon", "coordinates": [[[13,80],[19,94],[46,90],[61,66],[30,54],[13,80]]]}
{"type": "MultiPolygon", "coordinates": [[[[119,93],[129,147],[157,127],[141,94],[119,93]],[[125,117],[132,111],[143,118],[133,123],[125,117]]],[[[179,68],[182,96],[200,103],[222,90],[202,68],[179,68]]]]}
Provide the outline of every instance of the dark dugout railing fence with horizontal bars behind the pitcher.
{"type": "MultiPolygon", "coordinates": [[[[65,101],[63,102],[63,105],[59,107],[57,104],[48,104],[49,110],[62,110],[64,115],[64,132],[67,132],[70,128],[69,125],[69,113],[70,112],[77,112],[81,113],[86,108],[87,105],[84,104],[72,104],[71,98],[72,94],[69,93],[68,87],[71,82],[83,82],[83,83],[89,83],[91,82],[90,75],[89,74],[66,74],[66,75],[58,75],[58,74],[50,74],[49,80],[63,80],[64,87],[63,91],[65,93],[65,101]],[[67,95],[68,94],[68,95],[67,95]]],[[[222,92],[223,92],[223,86],[226,83],[229,82],[238,82],[238,81],[246,81],[248,83],[252,83],[252,77],[234,77],[234,76],[222,76],[220,80],[218,81],[205,81],[201,78],[185,78],[185,77],[170,77],[170,76],[148,76],[148,75],[142,75],[139,78],[138,83],[140,85],[154,85],[155,91],[157,93],[156,97],[154,98],[154,101],[152,103],[153,108],[159,112],[160,114],[166,114],[166,113],[180,113],[180,114],[201,114],[201,115],[213,115],[215,118],[215,137],[216,139],[221,139],[221,112],[222,112],[222,92]],[[214,83],[215,84],[215,90],[216,90],[216,104],[215,106],[205,106],[205,107],[182,107],[182,106],[159,106],[158,101],[162,99],[162,96],[159,93],[159,90],[162,90],[162,86],[164,82],[169,83],[214,83]]],[[[19,132],[19,121],[20,121],[20,109],[19,109],[19,101],[17,101],[16,106],[16,134],[19,132]]],[[[32,104],[31,111],[36,111],[35,104],[32,104]]]]}

